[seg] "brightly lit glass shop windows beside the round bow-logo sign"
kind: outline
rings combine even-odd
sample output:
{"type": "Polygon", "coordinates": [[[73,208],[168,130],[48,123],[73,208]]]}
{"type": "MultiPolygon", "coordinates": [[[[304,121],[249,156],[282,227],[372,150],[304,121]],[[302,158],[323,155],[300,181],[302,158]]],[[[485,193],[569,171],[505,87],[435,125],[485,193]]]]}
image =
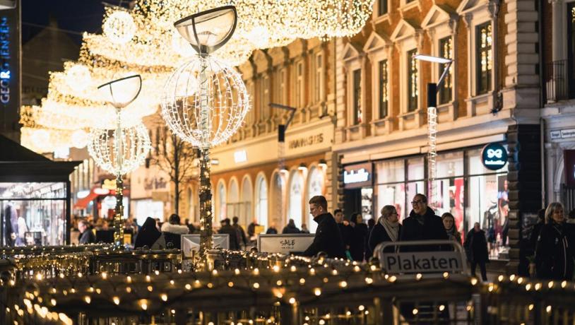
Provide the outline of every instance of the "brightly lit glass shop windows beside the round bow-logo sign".
{"type": "MultiPolygon", "coordinates": [[[[488,169],[482,157],[484,149],[490,150],[485,146],[469,147],[437,155],[436,194],[429,199],[429,206],[437,215],[453,214],[463,238],[474,223],[480,223],[490,243],[491,258],[506,259],[509,250],[506,159],[497,166],[487,162],[487,166],[497,168],[488,169]]],[[[345,214],[362,211],[367,220],[371,215],[379,217],[383,206],[393,205],[400,220],[407,218],[413,196],[427,193],[426,170],[427,156],[421,154],[346,165],[343,175],[345,214]],[[373,195],[371,199],[370,195],[373,195]],[[369,206],[370,202],[372,206],[369,206]]]]}

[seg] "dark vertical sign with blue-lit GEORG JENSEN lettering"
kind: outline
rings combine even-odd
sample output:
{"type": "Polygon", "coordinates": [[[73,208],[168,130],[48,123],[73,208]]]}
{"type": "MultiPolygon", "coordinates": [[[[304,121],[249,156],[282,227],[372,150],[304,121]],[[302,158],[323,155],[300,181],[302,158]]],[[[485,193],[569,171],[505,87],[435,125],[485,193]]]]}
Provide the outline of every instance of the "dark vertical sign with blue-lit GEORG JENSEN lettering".
{"type": "Polygon", "coordinates": [[[19,142],[20,8],[0,8],[0,132],[19,142]]]}

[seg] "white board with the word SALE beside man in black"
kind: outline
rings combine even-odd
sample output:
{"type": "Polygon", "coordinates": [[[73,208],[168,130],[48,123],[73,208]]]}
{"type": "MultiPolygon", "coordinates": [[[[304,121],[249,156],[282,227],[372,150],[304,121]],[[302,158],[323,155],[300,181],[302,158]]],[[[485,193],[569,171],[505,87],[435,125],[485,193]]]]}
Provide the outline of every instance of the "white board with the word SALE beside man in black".
{"type": "Polygon", "coordinates": [[[315,234],[258,235],[258,251],[266,253],[301,253],[314,242],[315,234]]]}

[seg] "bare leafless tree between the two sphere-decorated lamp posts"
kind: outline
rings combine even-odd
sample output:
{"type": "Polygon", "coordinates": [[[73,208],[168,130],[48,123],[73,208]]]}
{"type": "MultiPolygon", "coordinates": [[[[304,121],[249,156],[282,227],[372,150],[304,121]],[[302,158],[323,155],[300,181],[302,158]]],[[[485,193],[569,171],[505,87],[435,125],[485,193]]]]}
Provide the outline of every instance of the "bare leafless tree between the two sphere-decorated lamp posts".
{"type": "Polygon", "coordinates": [[[174,183],[174,213],[179,214],[179,198],[182,197],[181,184],[187,184],[198,173],[198,150],[190,143],[172,134],[162,121],[155,129],[150,152],[150,164],[156,165],[170,176],[174,183]]]}

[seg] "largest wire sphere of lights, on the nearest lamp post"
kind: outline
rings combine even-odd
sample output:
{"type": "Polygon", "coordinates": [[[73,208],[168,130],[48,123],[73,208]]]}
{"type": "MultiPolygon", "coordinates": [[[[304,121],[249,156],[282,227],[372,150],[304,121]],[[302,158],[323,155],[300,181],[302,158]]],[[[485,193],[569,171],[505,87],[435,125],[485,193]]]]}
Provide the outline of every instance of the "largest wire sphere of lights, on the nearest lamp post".
{"type": "Polygon", "coordinates": [[[170,130],[192,146],[218,146],[235,134],[249,111],[249,98],[242,76],[232,67],[198,55],[180,66],[167,79],[161,98],[162,116],[170,130]],[[202,143],[201,85],[199,74],[206,64],[206,92],[209,107],[208,143],[202,143]]]}

